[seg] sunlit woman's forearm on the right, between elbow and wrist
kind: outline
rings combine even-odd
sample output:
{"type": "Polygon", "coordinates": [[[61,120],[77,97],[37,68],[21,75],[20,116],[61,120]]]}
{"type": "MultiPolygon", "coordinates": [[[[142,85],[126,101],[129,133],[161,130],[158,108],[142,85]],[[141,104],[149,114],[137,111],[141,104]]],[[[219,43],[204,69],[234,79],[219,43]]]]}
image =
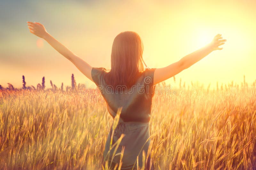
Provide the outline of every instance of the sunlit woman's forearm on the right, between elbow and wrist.
{"type": "Polygon", "coordinates": [[[207,56],[208,54],[210,54],[212,52],[212,48],[210,45],[206,45],[198,50],[196,50],[193,53],[190,53],[188,55],[186,55],[185,57],[183,57],[182,59],[180,59],[180,63],[182,63],[184,69],[192,66],[193,64],[195,64],[197,61],[203,59],[205,56],[207,56]]]}

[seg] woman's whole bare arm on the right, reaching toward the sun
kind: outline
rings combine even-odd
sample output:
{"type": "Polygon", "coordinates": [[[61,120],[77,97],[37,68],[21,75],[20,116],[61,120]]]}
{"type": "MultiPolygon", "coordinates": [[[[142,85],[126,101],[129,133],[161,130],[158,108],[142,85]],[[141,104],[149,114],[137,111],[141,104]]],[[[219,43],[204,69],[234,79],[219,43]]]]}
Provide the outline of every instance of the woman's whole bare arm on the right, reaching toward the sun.
{"type": "Polygon", "coordinates": [[[210,44],[200,48],[193,53],[186,55],[179,61],[172,63],[169,66],[156,68],[154,73],[154,85],[161,81],[169,79],[170,77],[180,73],[182,70],[192,66],[212,51],[222,50],[223,48],[220,48],[219,46],[223,45],[225,43],[224,41],[226,41],[226,39],[222,39],[221,34],[217,34],[210,44]]]}

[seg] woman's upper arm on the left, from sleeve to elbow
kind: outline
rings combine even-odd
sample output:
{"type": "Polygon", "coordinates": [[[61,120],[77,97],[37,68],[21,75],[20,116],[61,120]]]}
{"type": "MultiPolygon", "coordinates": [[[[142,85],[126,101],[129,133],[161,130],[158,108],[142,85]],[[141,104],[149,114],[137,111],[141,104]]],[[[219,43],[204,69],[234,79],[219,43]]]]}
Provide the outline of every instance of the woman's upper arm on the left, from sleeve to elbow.
{"type": "Polygon", "coordinates": [[[92,66],[90,66],[87,62],[82,60],[76,55],[72,55],[70,61],[91,81],[92,80],[92,66]]]}

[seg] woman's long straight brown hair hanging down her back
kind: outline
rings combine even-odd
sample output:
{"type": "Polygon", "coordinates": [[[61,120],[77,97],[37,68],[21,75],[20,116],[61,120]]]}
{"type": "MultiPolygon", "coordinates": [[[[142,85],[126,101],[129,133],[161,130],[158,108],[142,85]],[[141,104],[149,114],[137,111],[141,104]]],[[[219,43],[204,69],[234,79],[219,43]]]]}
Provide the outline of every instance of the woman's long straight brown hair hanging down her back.
{"type": "Polygon", "coordinates": [[[136,32],[126,31],[118,34],[112,45],[111,70],[105,75],[106,83],[113,88],[118,85],[132,87],[145,71],[143,49],[142,40],[136,32]]]}

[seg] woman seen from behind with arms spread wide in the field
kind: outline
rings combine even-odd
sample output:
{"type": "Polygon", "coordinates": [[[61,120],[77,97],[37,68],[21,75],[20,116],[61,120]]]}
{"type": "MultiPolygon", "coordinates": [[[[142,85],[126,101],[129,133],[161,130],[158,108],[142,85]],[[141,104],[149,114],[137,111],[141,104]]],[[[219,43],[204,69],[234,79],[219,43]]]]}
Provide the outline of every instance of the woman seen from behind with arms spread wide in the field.
{"type": "Polygon", "coordinates": [[[154,169],[149,150],[149,120],[154,85],[180,73],[212,51],[221,50],[219,46],[226,41],[222,39],[221,34],[217,34],[211,43],[169,66],[145,69],[140,36],[136,32],[121,32],[114,39],[111,70],[107,72],[105,68],[92,67],[79,58],[54,39],[44,25],[37,22],[27,23],[31,33],[45,39],[86,77],[95,82],[113,118],[120,114],[118,122],[113,122],[113,130],[108,134],[102,165],[108,163],[108,167],[112,168],[120,165],[122,169],[135,169],[137,165],[154,169]],[[122,164],[119,164],[120,159],[122,164]]]}

